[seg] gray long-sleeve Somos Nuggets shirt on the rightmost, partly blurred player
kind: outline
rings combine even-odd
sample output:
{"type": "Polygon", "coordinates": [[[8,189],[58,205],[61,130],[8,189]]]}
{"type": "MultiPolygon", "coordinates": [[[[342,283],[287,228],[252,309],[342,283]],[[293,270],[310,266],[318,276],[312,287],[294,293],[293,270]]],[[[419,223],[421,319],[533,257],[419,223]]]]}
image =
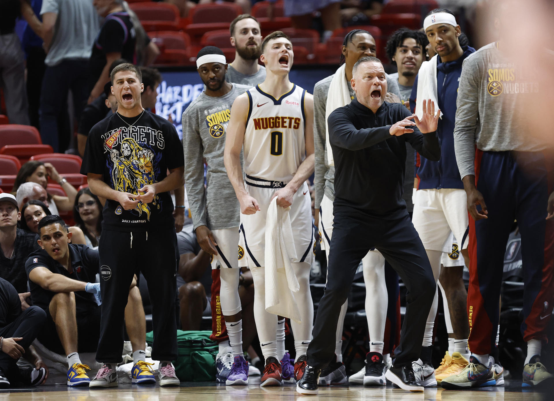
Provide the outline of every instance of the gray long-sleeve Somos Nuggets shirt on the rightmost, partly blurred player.
{"type": "Polygon", "coordinates": [[[546,143],[528,135],[521,113],[539,91],[538,76],[490,43],[464,60],[461,69],[454,150],[460,177],[475,175],[475,145],[482,151],[541,151],[546,143]]]}

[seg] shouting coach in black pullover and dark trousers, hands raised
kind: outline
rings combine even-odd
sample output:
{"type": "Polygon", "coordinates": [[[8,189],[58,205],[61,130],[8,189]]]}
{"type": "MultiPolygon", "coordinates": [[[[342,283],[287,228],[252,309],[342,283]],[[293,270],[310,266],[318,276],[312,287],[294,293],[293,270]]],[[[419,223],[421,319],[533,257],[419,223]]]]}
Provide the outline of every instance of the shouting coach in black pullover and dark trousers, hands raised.
{"type": "Polygon", "coordinates": [[[333,240],[325,294],[307,352],[308,366],[296,389],[301,394],[317,394],[321,369],[335,355],[341,305],[363,256],[376,248],[408,290],[400,344],[386,378],[405,390],[423,391],[416,383],[412,362],[419,358],[436,284],[402,199],[402,188],[406,142],[429,160],[440,158],[435,132],[440,111],[435,116],[429,100],[419,121],[402,104],[384,102],[387,80],[381,61],[375,57],[357,61],[351,85],[356,99],[336,109],[328,119],[335,160],[333,240]]]}

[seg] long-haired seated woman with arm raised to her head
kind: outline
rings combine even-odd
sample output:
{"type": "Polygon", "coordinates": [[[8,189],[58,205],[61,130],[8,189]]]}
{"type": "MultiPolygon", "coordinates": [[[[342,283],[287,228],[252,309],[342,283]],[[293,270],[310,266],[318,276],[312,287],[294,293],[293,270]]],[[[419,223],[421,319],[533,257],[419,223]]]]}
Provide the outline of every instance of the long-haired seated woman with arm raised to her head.
{"type": "Polygon", "coordinates": [[[50,195],[49,193],[47,193],[47,202],[44,202],[44,200],[40,198],[29,198],[27,199],[27,201],[23,201],[22,203],[20,203],[19,207],[22,207],[24,203],[27,203],[32,199],[38,199],[39,201],[44,202],[44,204],[47,205],[52,214],[58,214],[58,210],[68,212],[69,210],[73,209],[73,203],[75,202],[77,190],[73,185],[67,182],[65,178],[60,177],[60,174],[52,165],[52,163],[43,163],[40,161],[30,160],[27,163],[23,164],[23,166],[21,166],[19,172],[17,173],[16,182],[14,182],[13,184],[12,193],[17,193],[19,187],[25,182],[35,182],[43,187],[44,191],[47,192],[46,189],[48,186],[48,177],[52,178],[53,181],[60,184],[61,188],[63,188],[67,196],[50,195]]]}

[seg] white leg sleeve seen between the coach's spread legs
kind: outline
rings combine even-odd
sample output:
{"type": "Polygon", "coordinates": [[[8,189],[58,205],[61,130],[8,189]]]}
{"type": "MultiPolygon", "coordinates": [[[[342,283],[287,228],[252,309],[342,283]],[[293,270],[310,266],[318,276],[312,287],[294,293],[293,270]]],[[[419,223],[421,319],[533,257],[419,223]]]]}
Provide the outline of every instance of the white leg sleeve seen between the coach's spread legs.
{"type": "Polygon", "coordinates": [[[379,251],[370,251],[362,259],[363,281],[366,284],[367,327],[372,342],[383,342],[384,326],[387,322],[388,292],[384,280],[384,261],[379,251]]]}

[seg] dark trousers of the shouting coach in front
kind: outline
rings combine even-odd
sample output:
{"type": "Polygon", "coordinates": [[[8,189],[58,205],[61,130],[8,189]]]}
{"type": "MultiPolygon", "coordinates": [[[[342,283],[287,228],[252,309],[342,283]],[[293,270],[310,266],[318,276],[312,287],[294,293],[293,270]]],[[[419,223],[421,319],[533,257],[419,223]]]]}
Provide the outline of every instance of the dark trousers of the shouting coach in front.
{"type": "Polygon", "coordinates": [[[363,256],[376,248],[396,270],[407,288],[406,316],[394,366],[417,361],[425,322],[435,295],[429,259],[408,212],[397,219],[370,217],[360,210],[334,205],[333,237],[327,267],[325,293],[319,303],[314,339],[308,347],[308,364],[325,368],[335,355],[338,315],[363,256]]]}

